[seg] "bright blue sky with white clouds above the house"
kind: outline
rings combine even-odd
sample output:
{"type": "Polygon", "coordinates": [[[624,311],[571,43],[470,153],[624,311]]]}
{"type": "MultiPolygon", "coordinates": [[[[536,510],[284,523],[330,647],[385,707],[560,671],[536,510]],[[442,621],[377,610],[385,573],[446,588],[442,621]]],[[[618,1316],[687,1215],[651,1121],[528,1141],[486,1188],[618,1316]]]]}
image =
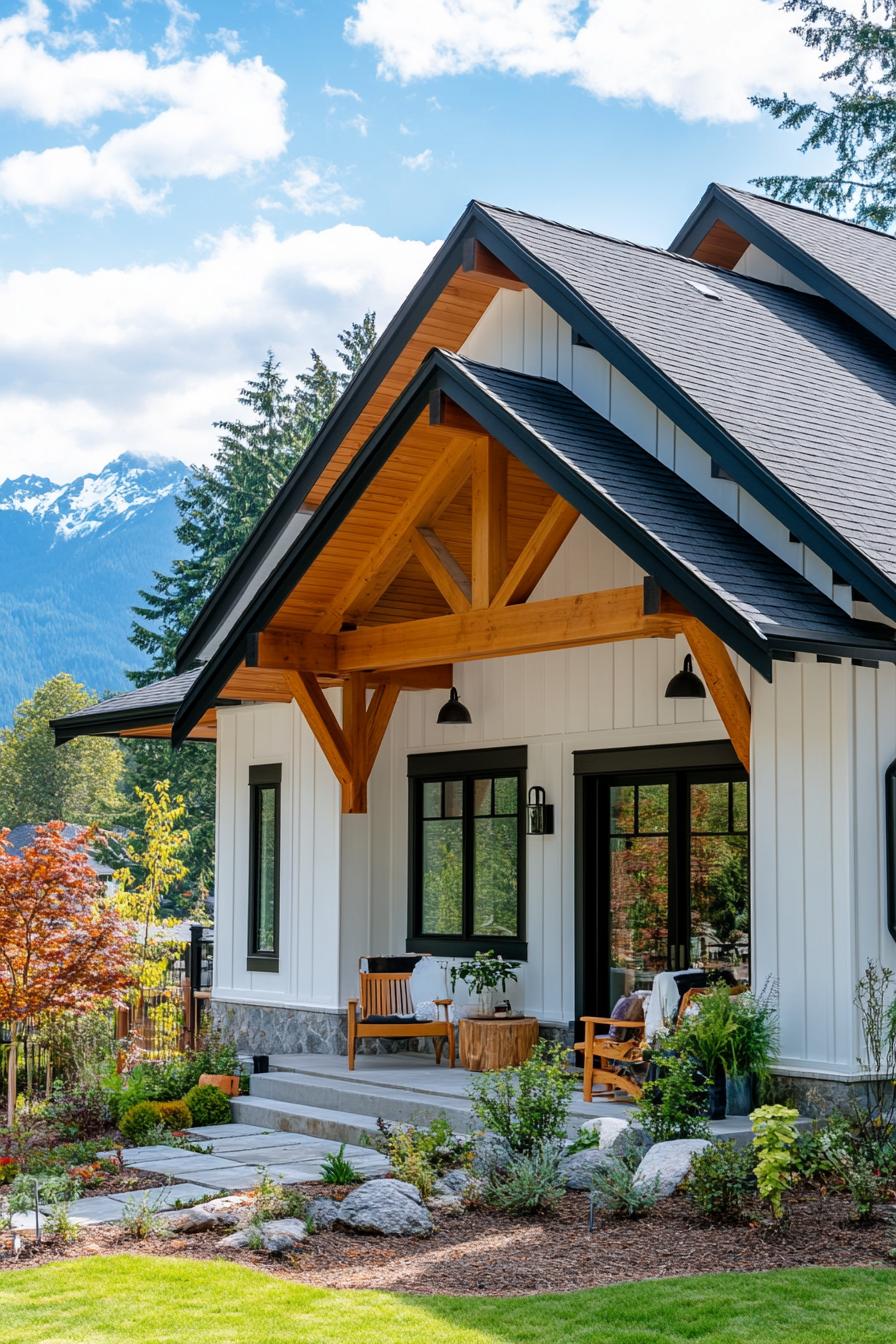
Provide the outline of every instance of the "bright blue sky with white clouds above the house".
{"type": "Polygon", "coordinates": [[[664,245],[711,179],[802,168],[751,90],[814,93],[771,0],[0,7],[0,476],[214,448],[386,320],[480,196],[664,245]]]}

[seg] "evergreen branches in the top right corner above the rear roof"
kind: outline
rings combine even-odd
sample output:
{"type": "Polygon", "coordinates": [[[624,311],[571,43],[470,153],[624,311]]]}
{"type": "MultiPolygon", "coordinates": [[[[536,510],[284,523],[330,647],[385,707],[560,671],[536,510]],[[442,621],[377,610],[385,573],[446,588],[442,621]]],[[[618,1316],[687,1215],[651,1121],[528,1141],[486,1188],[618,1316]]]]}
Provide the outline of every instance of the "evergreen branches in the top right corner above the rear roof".
{"type": "Polygon", "coordinates": [[[785,130],[806,132],[801,151],[833,149],[836,165],[814,176],[756,177],[778,200],[850,215],[860,224],[896,222],[896,0],[866,0],[858,13],[817,0],[786,0],[794,32],[825,62],[833,82],[823,102],[751,98],[785,130]]]}

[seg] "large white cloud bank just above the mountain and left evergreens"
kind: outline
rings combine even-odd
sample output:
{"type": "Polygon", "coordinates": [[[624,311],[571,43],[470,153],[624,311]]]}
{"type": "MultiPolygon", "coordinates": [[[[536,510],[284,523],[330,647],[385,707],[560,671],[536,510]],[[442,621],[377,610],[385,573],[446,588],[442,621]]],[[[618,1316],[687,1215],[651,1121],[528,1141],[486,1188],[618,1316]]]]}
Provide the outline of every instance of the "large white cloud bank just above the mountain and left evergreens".
{"type": "Polygon", "coordinates": [[[292,375],[365,309],[382,329],[437,246],[257,224],[192,263],[0,274],[16,314],[0,327],[0,477],[69,480],[125,448],[208,460],[212,421],[236,414],[269,347],[292,375]]]}

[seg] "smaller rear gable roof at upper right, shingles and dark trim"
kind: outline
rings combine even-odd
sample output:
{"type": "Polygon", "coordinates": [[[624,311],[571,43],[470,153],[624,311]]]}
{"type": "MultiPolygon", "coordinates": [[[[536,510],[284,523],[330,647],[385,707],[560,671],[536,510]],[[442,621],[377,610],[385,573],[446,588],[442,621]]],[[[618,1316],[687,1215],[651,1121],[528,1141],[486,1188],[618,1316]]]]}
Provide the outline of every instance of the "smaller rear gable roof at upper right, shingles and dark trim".
{"type": "MultiPolygon", "coordinates": [[[[721,223],[896,348],[896,238],[892,234],[712,183],[670,251],[700,255],[721,223]]],[[[708,258],[707,258],[708,259],[708,258]]]]}

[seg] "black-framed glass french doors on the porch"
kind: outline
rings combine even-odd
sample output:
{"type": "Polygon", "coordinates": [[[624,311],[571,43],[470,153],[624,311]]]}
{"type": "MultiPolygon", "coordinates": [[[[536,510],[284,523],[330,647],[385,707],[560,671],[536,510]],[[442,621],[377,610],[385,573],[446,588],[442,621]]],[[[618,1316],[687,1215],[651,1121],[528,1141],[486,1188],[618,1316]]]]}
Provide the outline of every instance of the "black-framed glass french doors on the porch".
{"type": "Polygon", "coordinates": [[[748,980],[744,770],[704,763],[707,751],[664,767],[660,750],[656,769],[647,753],[604,755],[619,759],[580,780],[582,1011],[610,1012],[658,970],[701,966],[748,980]]]}

